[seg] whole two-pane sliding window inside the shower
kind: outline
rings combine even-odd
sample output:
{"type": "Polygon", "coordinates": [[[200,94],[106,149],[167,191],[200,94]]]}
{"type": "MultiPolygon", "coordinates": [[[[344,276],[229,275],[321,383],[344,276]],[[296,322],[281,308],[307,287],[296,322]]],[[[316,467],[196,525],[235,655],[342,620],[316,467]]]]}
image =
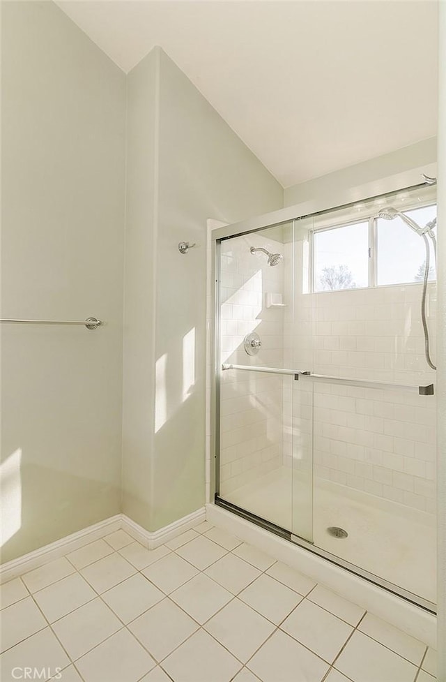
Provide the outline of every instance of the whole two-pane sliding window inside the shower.
{"type": "MultiPolygon", "coordinates": [[[[422,282],[426,266],[424,241],[399,216],[379,218],[383,200],[361,221],[316,228],[312,238],[312,290],[339,291],[422,282]]],[[[392,200],[389,200],[389,206],[392,200]]],[[[413,205],[413,204],[412,204],[413,205]]],[[[436,217],[436,204],[400,210],[422,228],[436,217]]],[[[344,212],[344,216],[348,215],[344,212]]],[[[335,219],[335,218],[334,218],[335,219]]],[[[338,218],[339,221],[339,218],[338,218]]],[[[429,281],[436,279],[435,254],[429,239],[429,281]]]]}

